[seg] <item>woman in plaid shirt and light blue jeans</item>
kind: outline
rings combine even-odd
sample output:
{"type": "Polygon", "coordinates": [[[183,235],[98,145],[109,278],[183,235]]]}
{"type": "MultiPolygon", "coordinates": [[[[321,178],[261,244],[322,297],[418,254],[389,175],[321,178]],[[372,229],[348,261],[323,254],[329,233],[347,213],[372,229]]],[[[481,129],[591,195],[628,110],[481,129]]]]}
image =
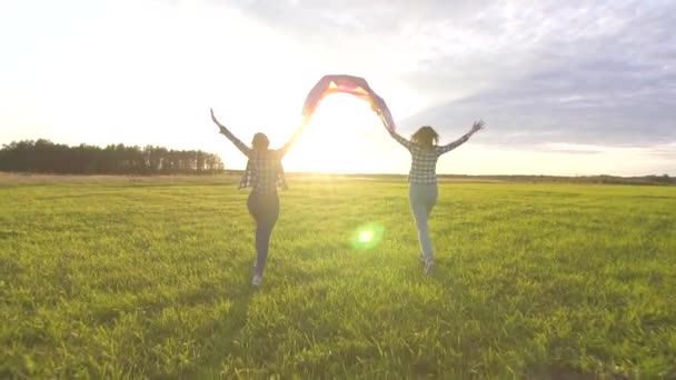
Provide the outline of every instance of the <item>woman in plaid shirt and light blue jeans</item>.
{"type": "Polygon", "coordinates": [[[435,264],[431,240],[427,221],[431,209],[437,203],[437,160],[446,152],[449,152],[469,138],[484,129],[484,120],[475,121],[471,130],[458,140],[447,144],[437,146],[439,134],[429,126],[421,127],[411,137],[410,141],[397,134],[394,130],[390,136],[404,148],[408,149],[411,156],[410,172],[408,174],[409,191],[408,198],[410,208],[414,212],[416,226],[418,227],[418,239],[420,240],[420,259],[425,262],[425,273],[429,274],[435,264]]]}

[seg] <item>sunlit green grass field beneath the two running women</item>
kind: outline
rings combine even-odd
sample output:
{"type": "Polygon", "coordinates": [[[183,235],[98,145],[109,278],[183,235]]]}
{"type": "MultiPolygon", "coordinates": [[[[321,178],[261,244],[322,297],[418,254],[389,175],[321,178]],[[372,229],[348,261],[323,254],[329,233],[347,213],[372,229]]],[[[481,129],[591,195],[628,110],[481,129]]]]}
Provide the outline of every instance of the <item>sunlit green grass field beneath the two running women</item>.
{"type": "Polygon", "coordinates": [[[262,287],[227,178],[0,181],[0,378],[676,377],[676,188],[291,180],[262,287]],[[354,244],[360,226],[382,240],[354,244]]]}

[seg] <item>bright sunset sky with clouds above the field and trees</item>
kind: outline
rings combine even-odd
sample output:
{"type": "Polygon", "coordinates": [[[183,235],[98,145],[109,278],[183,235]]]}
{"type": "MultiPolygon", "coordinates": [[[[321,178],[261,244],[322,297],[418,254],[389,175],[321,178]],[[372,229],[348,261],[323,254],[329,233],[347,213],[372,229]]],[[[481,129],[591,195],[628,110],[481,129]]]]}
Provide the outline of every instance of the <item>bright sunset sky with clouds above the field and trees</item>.
{"type": "MultiPolygon", "coordinates": [[[[364,77],[457,174],[676,176],[676,1],[1,0],[0,143],[280,147],[324,76],[364,77]]],[[[326,98],[287,171],[406,173],[368,103],[326,98]]]]}

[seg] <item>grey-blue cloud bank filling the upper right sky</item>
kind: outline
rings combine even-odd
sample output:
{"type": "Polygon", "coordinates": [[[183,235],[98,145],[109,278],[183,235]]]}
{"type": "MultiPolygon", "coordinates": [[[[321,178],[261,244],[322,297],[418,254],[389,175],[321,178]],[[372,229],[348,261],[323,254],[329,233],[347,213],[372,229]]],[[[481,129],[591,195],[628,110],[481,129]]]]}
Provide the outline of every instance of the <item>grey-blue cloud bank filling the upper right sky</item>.
{"type": "MultiPolygon", "coordinates": [[[[468,127],[485,117],[490,128],[487,143],[523,148],[546,142],[645,147],[676,141],[676,34],[669,32],[676,24],[676,4],[613,6],[564,11],[579,17],[563,17],[570,22],[566,30],[557,27],[566,23],[560,13],[551,12],[539,20],[547,31],[531,40],[528,53],[507,57],[490,70],[509,70],[519,59],[524,68],[499,78],[490,73],[489,83],[400,126],[468,127]]],[[[437,91],[445,84],[451,88],[454,79],[460,84],[468,80],[445,72],[445,60],[409,73],[409,81],[437,91]]],[[[473,79],[481,70],[461,73],[473,79]]]]}

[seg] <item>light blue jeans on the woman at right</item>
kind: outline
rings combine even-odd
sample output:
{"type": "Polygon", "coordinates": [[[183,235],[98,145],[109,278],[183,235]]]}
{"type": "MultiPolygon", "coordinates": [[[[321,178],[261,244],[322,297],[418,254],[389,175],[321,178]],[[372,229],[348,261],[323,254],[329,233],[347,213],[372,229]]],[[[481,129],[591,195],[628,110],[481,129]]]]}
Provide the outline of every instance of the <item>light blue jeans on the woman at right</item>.
{"type": "Polygon", "coordinates": [[[431,239],[429,238],[429,214],[437,204],[439,190],[436,183],[411,183],[408,188],[408,199],[410,209],[416,219],[418,227],[418,239],[420,240],[420,250],[426,260],[434,260],[434,250],[431,248],[431,239]]]}

